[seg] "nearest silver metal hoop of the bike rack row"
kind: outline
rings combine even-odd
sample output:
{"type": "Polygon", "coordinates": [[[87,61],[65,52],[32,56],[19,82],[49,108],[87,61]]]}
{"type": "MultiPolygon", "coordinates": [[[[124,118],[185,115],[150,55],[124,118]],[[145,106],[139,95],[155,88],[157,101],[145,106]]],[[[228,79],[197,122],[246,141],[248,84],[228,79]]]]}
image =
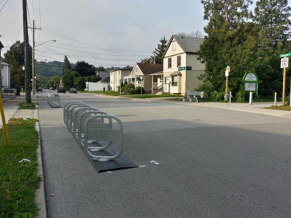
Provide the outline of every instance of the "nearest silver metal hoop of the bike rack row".
{"type": "Polygon", "coordinates": [[[87,153],[92,156],[94,160],[107,161],[119,157],[123,152],[123,125],[121,120],[113,115],[93,115],[87,118],[84,124],[84,146],[87,153]],[[94,123],[93,125],[90,125],[94,119],[115,120],[118,124],[118,128],[113,128],[112,124],[110,125],[110,122],[109,124],[94,123]],[[90,151],[88,140],[114,141],[118,144],[119,151],[113,156],[95,155],[90,151]]]}

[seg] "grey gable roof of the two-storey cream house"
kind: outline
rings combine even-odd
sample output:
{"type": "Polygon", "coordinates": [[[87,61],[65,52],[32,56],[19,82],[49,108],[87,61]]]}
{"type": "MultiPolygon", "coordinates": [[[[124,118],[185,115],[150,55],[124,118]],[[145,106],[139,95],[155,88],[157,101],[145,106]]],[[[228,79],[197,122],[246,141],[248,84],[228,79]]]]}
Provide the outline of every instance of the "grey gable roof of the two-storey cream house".
{"type": "Polygon", "coordinates": [[[165,52],[162,55],[162,58],[165,56],[167,50],[169,49],[173,39],[176,40],[178,45],[183,49],[186,53],[197,53],[200,45],[203,43],[204,38],[195,38],[189,36],[180,36],[180,35],[172,35],[169,43],[165,49],[165,52]]]}

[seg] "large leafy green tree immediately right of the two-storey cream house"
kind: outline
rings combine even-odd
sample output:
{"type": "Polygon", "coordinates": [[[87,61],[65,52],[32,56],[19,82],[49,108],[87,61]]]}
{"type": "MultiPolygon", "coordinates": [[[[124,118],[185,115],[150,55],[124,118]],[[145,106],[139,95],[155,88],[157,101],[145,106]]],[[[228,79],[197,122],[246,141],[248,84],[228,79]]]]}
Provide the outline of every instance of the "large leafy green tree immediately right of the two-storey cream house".
{"type": "MultiPolygon", "coordinates": [[[[207,33],[198,51],[199,59],[205,63],[205,73],[201,75],[203,89],[225,92],[225,70],[231,68],[229,89],[239,93],[242,76],[254,70],[256,38],[253,25],[247,23],[250,17],[250,0],[201,0],[204,5],[204,19],[207,33]]],[[[211,94],[210,94],[211,95],[211,94]]],[[[217,95],[217,94],[216,94],[217,95]]]]}

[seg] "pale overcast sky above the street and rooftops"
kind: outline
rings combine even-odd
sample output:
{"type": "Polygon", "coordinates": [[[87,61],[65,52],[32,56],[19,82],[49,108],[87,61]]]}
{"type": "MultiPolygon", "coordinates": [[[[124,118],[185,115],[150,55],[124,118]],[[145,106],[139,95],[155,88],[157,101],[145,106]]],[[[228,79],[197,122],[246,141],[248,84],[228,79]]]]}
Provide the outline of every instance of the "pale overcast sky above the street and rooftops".
{"type": "MultiPolygon", "coordinates": [[[[0,2],[1,9],[6,0],[0,2]]],[[[29,26],[34,19],[42,28],[35,31],[36,45],[57,40],[36,47],[37,60],[63,61],[66,54],[72,63],[133,65],[149,57],[163,36],[204,33],[207,24],[200,0],[27,0],[27,4],[29,26]]],[[[0,34],[4,46],[23,41],[21,0],[8,0],[0,11],[0,34]]],[[[32,45],[31,30],[29,40],[32,45]]]]}

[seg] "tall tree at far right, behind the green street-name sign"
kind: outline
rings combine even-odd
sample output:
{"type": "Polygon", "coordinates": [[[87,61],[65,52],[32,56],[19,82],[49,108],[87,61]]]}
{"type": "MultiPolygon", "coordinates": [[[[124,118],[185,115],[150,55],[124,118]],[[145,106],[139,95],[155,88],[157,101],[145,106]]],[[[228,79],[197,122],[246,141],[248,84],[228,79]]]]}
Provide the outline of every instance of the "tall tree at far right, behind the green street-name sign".
{"type": "Polygon", "coordinates": [[[259,0],[256,3],[253,17],[258,42],[256,71],[262,80],[260,89],[265,95],[282,90],[279,55],[290,52],[290,15],[288,0],[259,0]]]}

